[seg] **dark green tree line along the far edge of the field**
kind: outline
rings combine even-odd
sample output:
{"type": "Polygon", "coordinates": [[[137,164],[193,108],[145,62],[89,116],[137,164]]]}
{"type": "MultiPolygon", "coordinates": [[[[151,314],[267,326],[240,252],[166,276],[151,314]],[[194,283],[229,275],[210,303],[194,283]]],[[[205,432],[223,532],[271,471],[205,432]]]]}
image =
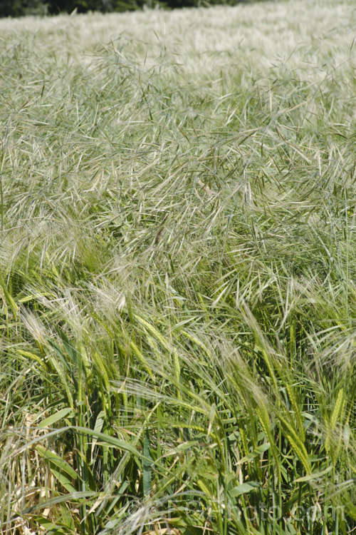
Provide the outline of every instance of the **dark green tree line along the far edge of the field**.
{"type": "Polygon", "coordinates": [[[208,6],[212,4],[238,4],[246,0],[0,0],[0,17],[23,15],[53,15],[59,13],[78,13],[85,11],[129,11],[162,6],[177,8],[184,6],[208,6]]]}

